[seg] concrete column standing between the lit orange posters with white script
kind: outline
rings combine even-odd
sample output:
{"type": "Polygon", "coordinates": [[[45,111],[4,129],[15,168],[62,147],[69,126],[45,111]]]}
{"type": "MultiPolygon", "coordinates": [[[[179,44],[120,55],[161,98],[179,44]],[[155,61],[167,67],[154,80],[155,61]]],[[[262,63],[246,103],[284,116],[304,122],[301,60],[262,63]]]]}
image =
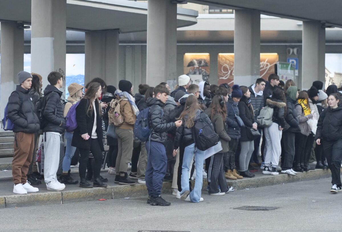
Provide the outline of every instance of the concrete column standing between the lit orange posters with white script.
{"type": "Polygon", "coordinates": [[[260,12],[235,10],[234,83],[250,86],[260,77],[260,12]]]}

